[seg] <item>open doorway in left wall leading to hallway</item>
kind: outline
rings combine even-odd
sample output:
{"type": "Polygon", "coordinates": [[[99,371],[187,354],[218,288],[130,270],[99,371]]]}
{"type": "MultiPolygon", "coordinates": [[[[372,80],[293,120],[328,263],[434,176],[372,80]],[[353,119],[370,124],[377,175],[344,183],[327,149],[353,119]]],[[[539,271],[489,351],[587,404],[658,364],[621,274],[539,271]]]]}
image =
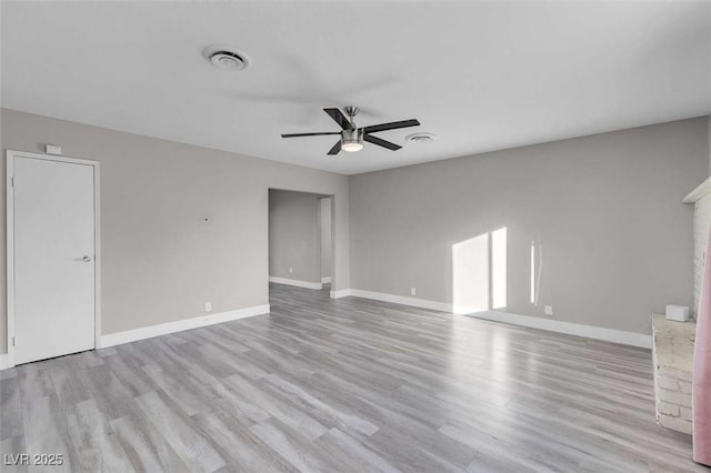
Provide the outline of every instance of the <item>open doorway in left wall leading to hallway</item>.
{"type": "Polygon", "coordinates": [[[334,281],[333,212],[333,195],[269,190],[270,295],[279,285],[330,296],[334,281]]]}

